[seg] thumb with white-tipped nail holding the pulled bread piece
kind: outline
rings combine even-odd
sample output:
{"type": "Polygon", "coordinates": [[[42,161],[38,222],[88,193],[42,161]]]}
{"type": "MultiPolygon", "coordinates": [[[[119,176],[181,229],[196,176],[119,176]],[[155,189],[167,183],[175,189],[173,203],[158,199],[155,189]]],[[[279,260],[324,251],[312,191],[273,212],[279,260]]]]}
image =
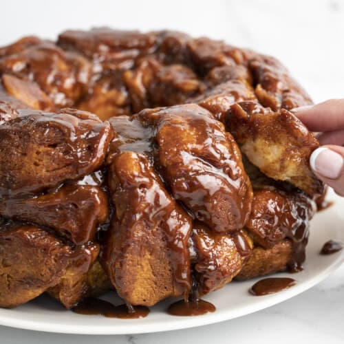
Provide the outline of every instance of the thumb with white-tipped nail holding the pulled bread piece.
{"type": "Polygon", "coordinates": [[[344,147],[327,145],[313,151],[310,166],[325,184],[344,196],[344,147]]]}

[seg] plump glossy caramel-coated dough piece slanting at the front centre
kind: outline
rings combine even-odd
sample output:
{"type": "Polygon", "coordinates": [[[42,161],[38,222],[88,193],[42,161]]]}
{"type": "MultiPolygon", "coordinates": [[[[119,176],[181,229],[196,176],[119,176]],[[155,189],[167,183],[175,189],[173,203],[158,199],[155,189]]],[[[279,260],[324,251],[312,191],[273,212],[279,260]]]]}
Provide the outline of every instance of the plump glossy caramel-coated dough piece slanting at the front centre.
{"type": "Polygon", "coordinates": [[[154,125],[155,159],[172,195],[215,232],[235,232],[248,219],[252,189],[233,137],[194,104],[144,110],[154,125]]]}

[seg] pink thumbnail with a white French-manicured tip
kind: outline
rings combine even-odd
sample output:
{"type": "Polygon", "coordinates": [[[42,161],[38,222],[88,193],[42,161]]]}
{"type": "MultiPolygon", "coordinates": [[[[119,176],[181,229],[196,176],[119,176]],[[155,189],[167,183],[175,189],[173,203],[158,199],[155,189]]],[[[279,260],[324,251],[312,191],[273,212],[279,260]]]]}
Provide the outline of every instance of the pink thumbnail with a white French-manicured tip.
{"type": "Polygon", "coordinates": [[[310,155],[310,166],[325,178],[337,179],[343,169],[343,157],[332,149],[320,147],[310,155]]]}

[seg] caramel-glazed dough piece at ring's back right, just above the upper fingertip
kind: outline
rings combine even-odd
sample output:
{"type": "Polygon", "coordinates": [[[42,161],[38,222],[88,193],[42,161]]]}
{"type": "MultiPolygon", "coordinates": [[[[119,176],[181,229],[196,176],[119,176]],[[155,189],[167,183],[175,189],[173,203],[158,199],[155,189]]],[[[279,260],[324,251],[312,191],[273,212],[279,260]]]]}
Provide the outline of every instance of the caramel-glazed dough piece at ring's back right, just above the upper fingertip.
{"type": "Polygon", "coordinates": [[[256,54],[249,68],[257,83],[256,96],[264,107],[277,111],[312,104],[310,96],[276,58],[256,54]]]}

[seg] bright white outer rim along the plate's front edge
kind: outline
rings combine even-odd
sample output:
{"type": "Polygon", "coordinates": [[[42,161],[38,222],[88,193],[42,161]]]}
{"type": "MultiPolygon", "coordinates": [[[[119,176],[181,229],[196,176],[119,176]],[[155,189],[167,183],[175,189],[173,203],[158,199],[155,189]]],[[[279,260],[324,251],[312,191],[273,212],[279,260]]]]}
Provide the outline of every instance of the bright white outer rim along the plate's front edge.
{"type": "MultiPolygon", "coordinates": [[[[329,195],[330,196],[330,195],[329,195]]],[[[334,198],[334,200],[338,200],[338,196],[328,197],[330,200],[334,198]]],[[[337,203],[337,202],[336,202],[337,203]]],[[[344,204],[344,199],[338,200],[338,205],[344,204]]],[[[336,204],[336,205],[337,205],[336,204]]],[[[344,239],[344,233],[341,238],[336,239],[344,239]]],[[[344,240],[343,240],[344,241],[344,240]]],[[[114,324],[114,326],[109,326],[108,323],[105,325],[82,325],[82,324],[74,324],[74,323],[49,323],[49,322],[41,322],[37,320],[31,319],[16,319],[15,316],[11,316],[10,318],[6,317],[6,310],[0,310],[0,325],[6,327],[13,327],[23,330],[32,330],[32,331],[39,331],[39,332],[51,332],[51,333],[59,333],[59,334],[85,334],[85,335],[116,335],[116,334],[145,334],[145,333],[155,333],[155,332],[167,332],[172,330],[184,330],[186,328],[191,327],[199,327],[203,325],[211,325],[214,323],[220,323],[222,321],[228,321],[230,319],[236,319],[241,316],[245,316],[248,314],[252,314],[258,312],[259,310],[264,310],[266,308],[270,308],[277,303],[281,303],[286,301],[292,297],[297,296],[309,290],[317,283],[323,281],[326,277],[328,277],[332,272],[334,272],[341,264],[344,262],[344,250],[337,252],[336,257],[322,270],[320,270],[315,275],[308,277],[305,281],[302,281],[300,284],[296,284],[292,288],[287,290],[283,290],[276,294],[269,294],[266,296],[261,296],[264,302],[256,302],[256,303],[247,303],[242,305],[240,308],[234,309],[227,307],[225,309],[218,309],[214,313],[206,314],[204,316],[185,316],[179,317],[181,321],[171,321],[170,323],[164,322],[162,323],[144,323],[140,324],[140,319],[136,320],[129,320],[130,323],[127,323],[128,320],[116,319],[118,323],[114,324]],[[1,314],[3,313],[3,314],[1,314]],[[125,326],[121,326],[120,322],[125,321],[125,326]]],[[[271,276],[283,276],[290,274],[286,272],[274,274],[271,276]]],[[[297,275],[294,275],[295,279],[297,280],[297,275]]],[[[256,279],[251,279],[254,282],[257,279],[261,279],[262,277],[257,277],[256,279]]],[[[239,282],[238,282],[239,283],[239,282]]],[[[204,299],[207,299],[204,297],[204,299]]],[[[78,314],[78,316],[83,316],[78,314]]],[[[87,316],[87,315],[85,315],[87,316]]]]}

